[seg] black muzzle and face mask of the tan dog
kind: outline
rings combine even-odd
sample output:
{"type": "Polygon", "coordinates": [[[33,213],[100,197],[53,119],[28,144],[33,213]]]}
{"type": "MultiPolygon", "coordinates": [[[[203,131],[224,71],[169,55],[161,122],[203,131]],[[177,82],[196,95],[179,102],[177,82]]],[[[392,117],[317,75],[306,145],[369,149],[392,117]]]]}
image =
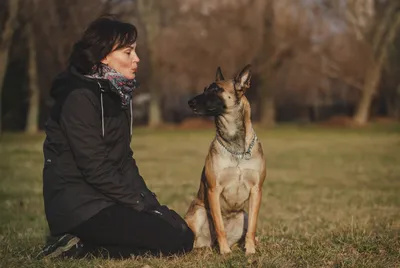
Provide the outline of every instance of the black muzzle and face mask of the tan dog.
{"type": "Polygon", "coordinates": [[[221,93],[223,88],[212,83],[204,89],[204,92],[188,101],[189,107],[198,115],[218,116],[226,109],[221,93]]]}

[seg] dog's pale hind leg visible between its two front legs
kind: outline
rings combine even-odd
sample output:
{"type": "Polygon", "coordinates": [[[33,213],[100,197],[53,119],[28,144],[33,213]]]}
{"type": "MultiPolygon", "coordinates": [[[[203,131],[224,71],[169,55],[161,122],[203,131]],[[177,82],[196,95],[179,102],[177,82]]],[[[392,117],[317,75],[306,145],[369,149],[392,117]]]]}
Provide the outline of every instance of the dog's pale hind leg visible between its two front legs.
{"type": "Polygon", "coordinates": [[[224,226],[226,231],[226,238],[228,240],[228,244],[231,247],[232,245],[244,240],[247,227],[248,227],[248,215],[243,210],[239,213],[231,216],[229,218],[224,218],[224,226]]]}

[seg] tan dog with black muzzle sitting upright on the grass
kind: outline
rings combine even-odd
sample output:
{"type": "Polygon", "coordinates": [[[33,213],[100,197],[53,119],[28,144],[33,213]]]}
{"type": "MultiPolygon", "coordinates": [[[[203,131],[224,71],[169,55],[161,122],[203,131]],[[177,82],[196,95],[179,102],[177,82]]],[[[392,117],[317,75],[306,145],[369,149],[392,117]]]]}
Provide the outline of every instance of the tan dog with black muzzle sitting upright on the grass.
{"type": "Polygon", "coordinates": [[[250,69],[246,65],[234,79],[225,80],[218,67],[215,82],[188,101],[195,114],[214,116],[216,126],[197,196],[184,216],[195,235],[194,248],[218,243],[220,253],[227,254],[244,242],[246,255],[255,253],[266,163],[245,96],[250,69]]]}

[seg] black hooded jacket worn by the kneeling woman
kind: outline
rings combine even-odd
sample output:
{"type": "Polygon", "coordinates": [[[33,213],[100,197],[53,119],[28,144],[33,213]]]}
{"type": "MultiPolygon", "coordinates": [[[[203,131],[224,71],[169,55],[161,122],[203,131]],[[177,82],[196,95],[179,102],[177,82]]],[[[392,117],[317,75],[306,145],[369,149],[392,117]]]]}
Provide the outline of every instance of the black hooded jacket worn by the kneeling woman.
{"type": "Polygon", "coordinates": [[[116,203],[139,211],[160,205],[132,157],[132,106],[122,109],[110,87],[73,67],[53,81],[43,146],[44,206],[53,235],[116,203]]]}

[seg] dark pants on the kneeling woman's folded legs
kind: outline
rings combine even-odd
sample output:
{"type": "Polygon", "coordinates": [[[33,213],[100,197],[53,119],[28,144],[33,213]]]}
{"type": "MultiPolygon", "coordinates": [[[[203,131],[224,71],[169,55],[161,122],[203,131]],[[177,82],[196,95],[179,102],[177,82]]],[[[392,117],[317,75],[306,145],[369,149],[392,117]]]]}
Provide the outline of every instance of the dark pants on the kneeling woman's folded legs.
{"type": "Polygon", "coordinates": [[[70,233],[81,239],[85,254],[94,256],[125,258],[131,254],[172,255],[191,251],[193,232],[178,214],[168,213],[168,209],[155,214],[114,205],[70,233]]]}

